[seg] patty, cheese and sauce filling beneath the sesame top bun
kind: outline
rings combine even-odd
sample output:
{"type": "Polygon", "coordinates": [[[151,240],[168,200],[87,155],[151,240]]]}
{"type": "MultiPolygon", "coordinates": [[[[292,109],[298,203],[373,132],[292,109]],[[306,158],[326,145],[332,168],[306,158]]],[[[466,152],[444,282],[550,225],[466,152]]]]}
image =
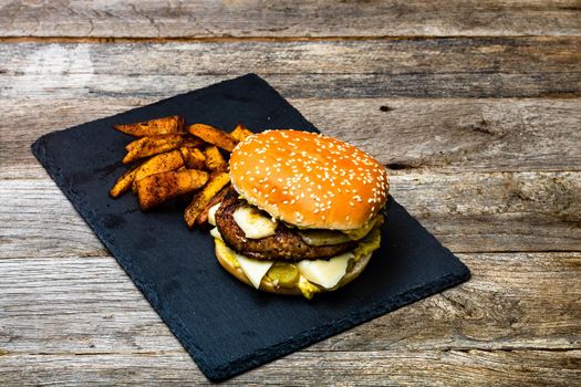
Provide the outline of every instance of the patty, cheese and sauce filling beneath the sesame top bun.
{"type": "Polygon", "coordinates": [[[221,257],[260,287],[298,287],[311,299],[336,287],[363,257],[380,248],[378,215],[363,228],[346,232],[301,230],[270,219],[235,190],[209,211],[210,233],[221,257]]]}

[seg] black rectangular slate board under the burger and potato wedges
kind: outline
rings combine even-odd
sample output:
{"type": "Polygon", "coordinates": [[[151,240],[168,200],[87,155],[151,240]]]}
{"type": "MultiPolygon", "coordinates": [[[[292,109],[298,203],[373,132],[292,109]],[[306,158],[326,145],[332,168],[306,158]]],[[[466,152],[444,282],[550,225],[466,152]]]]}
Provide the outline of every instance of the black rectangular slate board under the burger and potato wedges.
{"type": "Polygon", "coordinates": [[[255,74],[48,134],[32,151],[210,379],[225,379],[469,278],[468,269],[390,200],[382,248],[352,284],[312,301],[240,283],[214,255],[207,231],[189,231],[184,203],[143,213],[107,191],[125,169],[131,137],[113,124],[178,114],[234,128],[317,128],[255,74]]]}

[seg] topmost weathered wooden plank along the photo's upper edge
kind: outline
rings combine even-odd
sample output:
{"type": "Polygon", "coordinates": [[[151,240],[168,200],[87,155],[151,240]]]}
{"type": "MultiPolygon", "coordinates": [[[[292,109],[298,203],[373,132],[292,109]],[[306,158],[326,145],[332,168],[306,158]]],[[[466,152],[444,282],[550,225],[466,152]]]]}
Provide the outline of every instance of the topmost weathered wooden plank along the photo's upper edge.
{"type": "Polygon", "coordinates": [[[2,36],[381,36],[579,34],[579,3],[390,0],[0,3],[2,36]]]}

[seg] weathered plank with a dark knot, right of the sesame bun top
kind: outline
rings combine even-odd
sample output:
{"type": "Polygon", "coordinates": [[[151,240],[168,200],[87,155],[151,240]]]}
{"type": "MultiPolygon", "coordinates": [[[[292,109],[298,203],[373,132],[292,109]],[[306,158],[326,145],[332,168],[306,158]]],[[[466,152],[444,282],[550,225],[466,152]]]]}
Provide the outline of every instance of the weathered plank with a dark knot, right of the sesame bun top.
{"type": "Polygon", "coordinates": [[[567,170],[581,166],[581,100],[292,100],[325,134],[387,168],[567,170]]]}

